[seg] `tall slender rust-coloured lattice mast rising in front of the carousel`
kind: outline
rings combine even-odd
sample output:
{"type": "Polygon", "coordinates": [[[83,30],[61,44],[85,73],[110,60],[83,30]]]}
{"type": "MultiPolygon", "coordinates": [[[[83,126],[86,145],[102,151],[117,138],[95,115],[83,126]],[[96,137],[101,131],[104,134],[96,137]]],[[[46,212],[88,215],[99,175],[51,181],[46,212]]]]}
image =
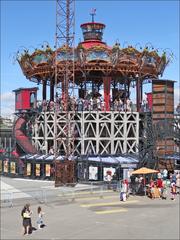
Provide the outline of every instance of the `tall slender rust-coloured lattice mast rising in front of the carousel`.
{"type": "MultiPolygon", "coordinates": [[[[56,0],[56,50],[55,50],[55,94],[56,99],[58,97],[58,49],[60,47],[73,48],[74,49],[74,0],[56,0]]],[[[66,148],[65,155],[68,158],[70,152],[72,151],[73,144],[70,142],[70,124],[68,118],[68,99],[74,94],[73,89],[69,85],[69,79],[73,79],[74,82],[74,65],[72,67],[72,72],[69,71],[69,68],[72,66],[72,63],[68,61],[68,58],[64,61],[64,71],[63,71],[63,81],[61,85],[62,96],[65,103],[66,110],[66,148]],[[71,148],[71,149],[70,149],[71,148]]],[[[71,85],[73,88],[73,84],[71,85]]],[[[54,124],[58,124],[57,113],[55,111],[54,115],[54,124]]],[[[54,151],[57,154],[57,141],[58,132],[57,128],[55,129],[54,134],[54,151]]],[[[71,139],[73,141],[73,139],[71,139]]]]}

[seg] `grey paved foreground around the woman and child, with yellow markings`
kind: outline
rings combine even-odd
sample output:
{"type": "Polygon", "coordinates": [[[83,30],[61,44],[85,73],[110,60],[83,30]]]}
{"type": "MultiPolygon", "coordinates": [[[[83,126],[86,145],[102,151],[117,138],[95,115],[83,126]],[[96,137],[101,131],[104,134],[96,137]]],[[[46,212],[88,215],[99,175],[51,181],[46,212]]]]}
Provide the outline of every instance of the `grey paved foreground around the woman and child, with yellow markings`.
{"type": "MultiPolygon", "coordinates": [[[[36,227],[39,204],[28,202],[36,227]]],[[[136,196],[124,203],[113,191],[103,198],[84,191],[75,201],[57,196],[41,206],[47,226],[29,236],[22,236],[22,206],[1,208],[1,239],[180,239],[179,195],[175,201],[136,196]]]]}

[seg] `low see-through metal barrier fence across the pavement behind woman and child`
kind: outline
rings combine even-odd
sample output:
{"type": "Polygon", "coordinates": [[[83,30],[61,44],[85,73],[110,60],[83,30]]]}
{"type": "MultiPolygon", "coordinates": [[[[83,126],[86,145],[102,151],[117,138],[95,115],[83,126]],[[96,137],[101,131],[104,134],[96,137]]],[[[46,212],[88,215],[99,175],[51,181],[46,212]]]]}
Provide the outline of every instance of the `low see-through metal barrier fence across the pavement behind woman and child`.
{"type": "Polygon", "coordinates": [[[36,188],[36,189],[18,189],[16,191],[1,190],[1,208],[31,204],[64,203],[73,202],[77,198],[94,196],[103,198],[108,194],[120,191],[121,181],[118,182],[91,182],[81,184],[81,186],[72,187],[73,184],[66,184],[61,187],[36,188]]]}

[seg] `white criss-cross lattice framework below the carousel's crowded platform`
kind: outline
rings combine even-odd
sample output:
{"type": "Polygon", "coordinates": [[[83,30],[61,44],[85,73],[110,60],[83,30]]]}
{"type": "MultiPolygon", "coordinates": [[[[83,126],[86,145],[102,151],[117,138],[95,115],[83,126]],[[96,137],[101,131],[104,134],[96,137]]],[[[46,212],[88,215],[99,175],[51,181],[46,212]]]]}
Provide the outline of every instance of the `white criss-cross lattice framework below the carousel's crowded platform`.
{"type": "MultiPolygon", "coordinates": [[[[42,112],[37,116],[32,139],[38,150],[43,149],[44,153],[48,153],[57,131],[59,154],[66,154],[68,134],[66,118],[66,112],[57,112],[55,125],[54,112],[42,112]]],[[[138,152],[140,122],[138,112],[68,112],[68,119],[72,155],[138,152]]]]}

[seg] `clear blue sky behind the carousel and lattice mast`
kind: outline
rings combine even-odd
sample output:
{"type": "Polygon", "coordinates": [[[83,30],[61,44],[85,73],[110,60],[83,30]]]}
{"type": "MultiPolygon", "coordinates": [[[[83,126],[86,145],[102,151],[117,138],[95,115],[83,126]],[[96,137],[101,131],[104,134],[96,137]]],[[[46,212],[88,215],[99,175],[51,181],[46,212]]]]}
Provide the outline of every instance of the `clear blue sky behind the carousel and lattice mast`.
{"type": "MultiPolygon", "coordinates": [[[[82,40],[80,24],[91,20],[89,12],[96,9],[95,20],[106,24],[104,40],[113,45],[169,48],[176,56],[163,78],[177,81],[179,86],[179,1],[76,1],[76,44],[82,40]]],[[[44,41],[54,46],[55,1],[1,0],[1,114],[14,111],[12,90],[34,87],[22,74],[13,54],[20,46],[38,48],[44,41]]]]}

